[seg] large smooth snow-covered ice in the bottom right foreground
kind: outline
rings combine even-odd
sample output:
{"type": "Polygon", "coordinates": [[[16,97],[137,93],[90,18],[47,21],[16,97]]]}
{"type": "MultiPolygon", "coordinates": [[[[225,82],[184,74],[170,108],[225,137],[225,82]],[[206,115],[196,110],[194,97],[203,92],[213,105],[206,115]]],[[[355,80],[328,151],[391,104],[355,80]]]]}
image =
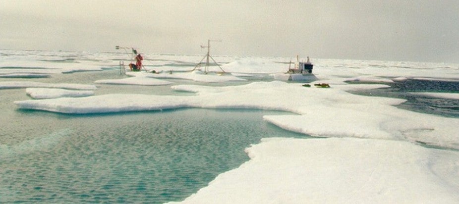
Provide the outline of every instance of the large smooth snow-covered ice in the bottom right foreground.
{"type": "Polygon", "coordinates": [[[407,142],[263,139],[183,204],[459,202],[459,153],[407,142]],[[446,159],[448,158],[448,159],[446,159]]]}

